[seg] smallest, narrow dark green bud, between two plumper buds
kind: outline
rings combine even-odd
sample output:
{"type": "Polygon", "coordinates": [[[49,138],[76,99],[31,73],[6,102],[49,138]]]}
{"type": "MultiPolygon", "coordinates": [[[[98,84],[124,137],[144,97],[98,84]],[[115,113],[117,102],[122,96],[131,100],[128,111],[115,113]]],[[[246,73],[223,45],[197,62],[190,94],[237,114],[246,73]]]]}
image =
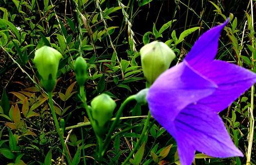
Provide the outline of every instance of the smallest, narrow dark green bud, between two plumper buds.
{"type": "Polygon", "coordinates": [[[74,63],[74,70],[76,73],[76,81],[79,86],[83,86],[88,78],[87,73],[88,65],[86,61],[80,56],[74,63]]]}

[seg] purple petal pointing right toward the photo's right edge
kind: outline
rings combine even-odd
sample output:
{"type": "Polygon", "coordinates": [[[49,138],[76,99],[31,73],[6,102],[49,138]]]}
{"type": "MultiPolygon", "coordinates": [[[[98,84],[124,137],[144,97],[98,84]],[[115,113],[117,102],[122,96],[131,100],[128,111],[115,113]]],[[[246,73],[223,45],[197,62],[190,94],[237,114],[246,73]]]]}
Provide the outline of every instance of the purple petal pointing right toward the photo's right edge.
{"type": "Polygon", "coordinates": [[[256,82],[255,73],[219,60],[197,71],[218,85],[212,95],[198,101],[198,104],[207,105],[215,112],[225,109],[256,82]]]}

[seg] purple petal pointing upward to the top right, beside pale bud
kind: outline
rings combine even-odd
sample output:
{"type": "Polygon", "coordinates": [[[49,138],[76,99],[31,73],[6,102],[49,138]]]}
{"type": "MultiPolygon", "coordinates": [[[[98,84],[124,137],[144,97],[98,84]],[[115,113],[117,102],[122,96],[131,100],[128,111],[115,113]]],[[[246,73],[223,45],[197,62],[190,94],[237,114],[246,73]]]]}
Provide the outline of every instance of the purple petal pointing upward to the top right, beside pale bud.
{"type": "Polygon", "coordinates": [[[208,30],[196,41],[185,58],[190,66],[197,69],[214,60],[218,51],[218,41],[221,31],[228,21],[229,19],[221,25],[208,30]]]}

